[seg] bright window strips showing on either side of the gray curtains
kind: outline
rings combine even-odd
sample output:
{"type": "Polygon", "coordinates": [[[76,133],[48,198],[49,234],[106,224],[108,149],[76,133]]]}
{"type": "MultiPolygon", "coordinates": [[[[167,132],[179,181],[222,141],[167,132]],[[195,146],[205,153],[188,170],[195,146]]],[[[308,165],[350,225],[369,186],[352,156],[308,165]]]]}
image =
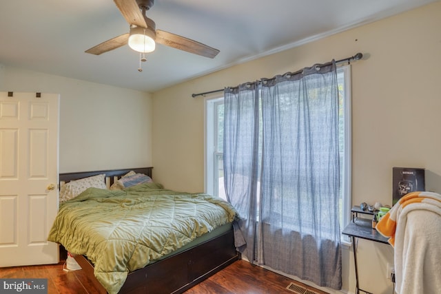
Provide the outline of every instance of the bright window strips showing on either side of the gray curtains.
{"type": "MultiPolygon", "coordinates": [[[[340,121],[340,228],[349,222],[351,200],[351,67],[337,70],[340,121]]],[[[205,191],[225,199],[223,188],[223,98],[205,101],[205,191]]]]}

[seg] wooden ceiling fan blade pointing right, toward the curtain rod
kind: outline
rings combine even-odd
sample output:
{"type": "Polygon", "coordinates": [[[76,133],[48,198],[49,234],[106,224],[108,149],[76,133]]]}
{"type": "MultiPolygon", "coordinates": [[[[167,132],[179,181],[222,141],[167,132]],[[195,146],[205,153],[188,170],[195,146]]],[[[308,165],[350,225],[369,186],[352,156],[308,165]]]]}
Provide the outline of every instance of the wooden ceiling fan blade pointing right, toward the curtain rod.
{"type": "Polygon", "coordinates": [[[219,53],[219,50],[204,45],[203,43],[193,41],[192,39],[187,39],[184,36],[172,34],[171,32],[165,32],[163,30],[156,30],[155,41],[172,48],[209,57],[211,59],[213,59],[219,53]]]}

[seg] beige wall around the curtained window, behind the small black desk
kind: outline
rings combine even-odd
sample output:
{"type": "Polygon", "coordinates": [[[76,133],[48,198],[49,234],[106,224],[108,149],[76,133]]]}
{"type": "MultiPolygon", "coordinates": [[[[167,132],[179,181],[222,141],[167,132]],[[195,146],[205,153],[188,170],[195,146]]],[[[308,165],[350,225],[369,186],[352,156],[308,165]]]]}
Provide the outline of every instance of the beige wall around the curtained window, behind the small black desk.
{"type": "MultiPolygon", "coordinates": [[[[441,2],[433,3],[154,93],[155,179],[171,189],[204,190],[204,98],[192,93],[362,52],[364,60],[352,65],[352,204],[391,204],[395,166],[424,167],[427,189],[441,193],[440,15],[441,2]]],[[[391,246],[360,240],[358,256],[361,287],[391,293],[391,246]]],[[[349,249],[343,275],[353,292],[349,249]]]]}

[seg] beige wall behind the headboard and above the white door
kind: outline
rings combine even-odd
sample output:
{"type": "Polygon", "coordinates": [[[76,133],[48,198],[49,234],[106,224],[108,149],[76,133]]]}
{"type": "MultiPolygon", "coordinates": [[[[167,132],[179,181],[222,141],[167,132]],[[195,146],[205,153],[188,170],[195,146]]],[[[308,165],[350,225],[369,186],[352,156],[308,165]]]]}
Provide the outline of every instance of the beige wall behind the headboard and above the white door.
{"type": "Polygon", "coordinates": [[[0,91],[60,94],[60,172],[152,165],[150,94],[1,64],[0,91]]]}

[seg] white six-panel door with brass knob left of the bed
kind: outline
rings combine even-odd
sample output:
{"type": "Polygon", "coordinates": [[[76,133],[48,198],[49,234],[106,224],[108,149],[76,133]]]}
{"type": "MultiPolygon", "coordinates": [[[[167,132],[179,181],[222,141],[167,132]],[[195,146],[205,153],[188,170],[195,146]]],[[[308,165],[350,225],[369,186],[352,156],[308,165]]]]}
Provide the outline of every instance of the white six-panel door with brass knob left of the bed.
{"type": "Polygon", "coordinates": [[[59,262],[59,95],[0,92],[0,267],[59,262]]]}

